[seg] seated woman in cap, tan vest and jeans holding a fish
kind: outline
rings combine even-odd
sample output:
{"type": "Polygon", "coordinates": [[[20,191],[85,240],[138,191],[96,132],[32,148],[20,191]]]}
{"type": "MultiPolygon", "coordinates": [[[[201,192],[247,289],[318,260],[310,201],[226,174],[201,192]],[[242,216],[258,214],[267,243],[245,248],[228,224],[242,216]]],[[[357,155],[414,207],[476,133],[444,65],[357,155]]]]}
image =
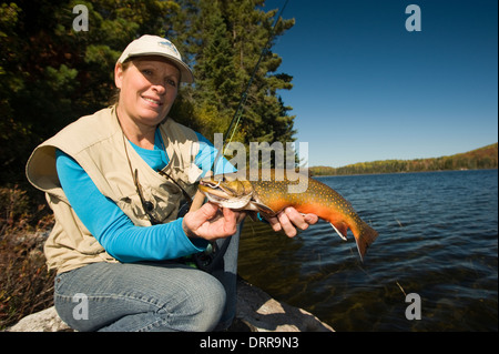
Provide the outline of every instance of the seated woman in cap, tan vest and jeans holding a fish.
{"type": "MultiPolygon", "coordinates": [[[[191,69],[169,40],[143,36],[123,51],[114,80],[118,104],[68,125],[28,161],[28,179],[55,216],[44,245],[58,271],[55,309],[78,331],[226,328],[244,214],[223,209],[215,218],[218,208],[206,203],[182,216],[206,172],[198,166],[216,154],[204,136],[167,118],[181,82],[194,80],[191,69]],[[227,237],[210,273],[186,262],[227,237]]],[[[215,166],[233,171],[225,160],[215,166]]],[[[317,218],[288,209],[268,221],[293,236],[317,218]]]]}

